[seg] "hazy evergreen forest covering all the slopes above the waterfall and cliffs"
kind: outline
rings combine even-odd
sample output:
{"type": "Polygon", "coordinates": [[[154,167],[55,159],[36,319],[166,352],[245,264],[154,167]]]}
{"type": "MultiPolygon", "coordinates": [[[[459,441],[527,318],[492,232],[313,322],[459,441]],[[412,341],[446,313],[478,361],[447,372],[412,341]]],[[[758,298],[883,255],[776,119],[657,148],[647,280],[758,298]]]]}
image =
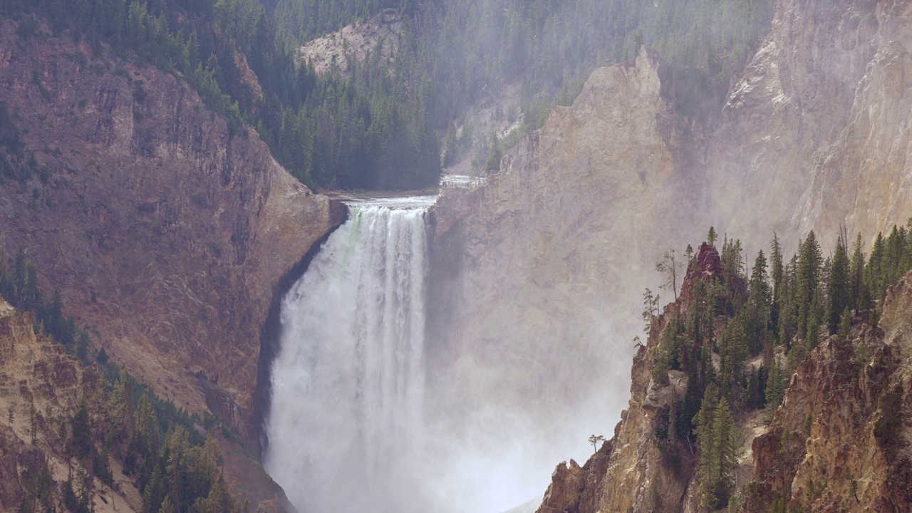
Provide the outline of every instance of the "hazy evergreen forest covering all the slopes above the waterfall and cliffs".
{"type": "MultiPolygon", "coordinates": [[[[667,94],[712,120],[731,77],[769,30],[772,0],[6,0],[20,37],[71,31],[123,59],[180,74],[234,135],[253,127],[312,188],[436,185],[472,148],[491,155],[569,104],[592,69],[648,45],[668,61],[667,94]],[[317,76],[307,40],[391,10],[399,48],[317,76]],[[39,21],[41,23],[39,23],[39,21]],[[245,59],[239,58],[243,55],[245,59]],[[262,88],[244,81],[246,65],[262,88]],[[522,84],[522,128],[506,141],[472,130],[472,110],[522,84]],[[469,122],[463,122],[463,121],[469,122]],[[461,136],[455,137],[455,127],[461,136]],[[444,135],[447,143],[440,140],[444,135]]],[[[494,161],[496,159],[493,159],[494,161]]],[[[484,159],[482,158],[482,162],[484,159]]],[[[495,166],[491,166],[495,167],[495,166]]]]}

